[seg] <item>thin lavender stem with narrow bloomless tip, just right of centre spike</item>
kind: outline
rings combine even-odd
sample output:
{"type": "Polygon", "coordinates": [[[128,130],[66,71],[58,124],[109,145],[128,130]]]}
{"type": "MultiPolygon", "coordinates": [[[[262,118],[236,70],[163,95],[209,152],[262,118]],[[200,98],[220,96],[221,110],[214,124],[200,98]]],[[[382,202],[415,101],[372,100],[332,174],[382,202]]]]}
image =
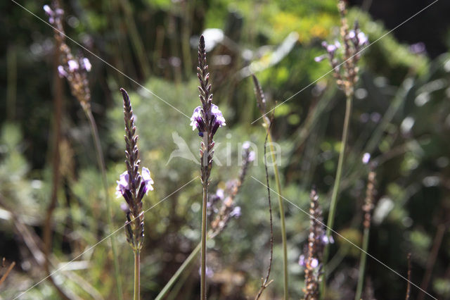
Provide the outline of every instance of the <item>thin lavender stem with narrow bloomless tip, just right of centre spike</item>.
{"type": "Polygon", "coordinates": [[[278,194],[278,207],[280,208],[280,223],[281,223],[281,241],[283,243],[283,290],[284,295],[283,299],[287,300],[288,296],[288,242],[286,239],[286,226],[285,226],[285,216],[284,216],[284,205],[283,199],[281,198],[281,181],[280,175],[278,173],[278,165],[276,162],[276,151],[274,149],[274,143],[270,131],[271,120],[266,116],[266,98],[264,96],[264,92],[262,91],[261,85],[259,85],[259,81],[255,75],[252,75],[253,83],[255,85],[255,95],[257,99],[257,106],[259,111],[261,111],[264,120],[263,127],[266,129],[266,134],[269,141],[269,148],[271,151],[272,163],[274,163],[274,175],[276,182],[276,192],[278,194]]]}

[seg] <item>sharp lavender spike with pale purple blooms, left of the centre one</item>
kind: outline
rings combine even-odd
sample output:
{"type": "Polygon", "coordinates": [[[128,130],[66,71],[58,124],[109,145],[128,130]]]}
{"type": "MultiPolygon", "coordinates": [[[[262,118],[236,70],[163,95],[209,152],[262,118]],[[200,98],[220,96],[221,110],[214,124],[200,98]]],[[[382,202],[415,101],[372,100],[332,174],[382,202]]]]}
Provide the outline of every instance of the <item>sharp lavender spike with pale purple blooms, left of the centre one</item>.
{"type": "Polygon", "coordinates": [[[138,136],[134,125],[133,108],[127,91],[120,89],[124,99],[125,120],[125,163],[127,170],[117,180],[116,194],[123,196],[127,202],[125,234],[127,242],[134,252],[134,300],[140,299],[140,258],[143,246],[143,209],[142,199],[148,191],[153,191],[153,180],[148,168],[142,168],[139,173],[139,150],[137,146],[138,136]]]}

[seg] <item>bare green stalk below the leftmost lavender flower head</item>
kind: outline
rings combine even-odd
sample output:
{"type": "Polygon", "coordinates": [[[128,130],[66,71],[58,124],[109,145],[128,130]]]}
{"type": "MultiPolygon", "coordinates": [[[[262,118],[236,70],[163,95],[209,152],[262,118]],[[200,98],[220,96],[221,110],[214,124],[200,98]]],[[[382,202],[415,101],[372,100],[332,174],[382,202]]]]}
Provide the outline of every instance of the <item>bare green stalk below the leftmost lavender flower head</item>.
{"type": "MultiPolygon", "coordinates": [[[[98,130],[94,115],[92,115],[91,110],[85,109],[86,117],[89,120],[89,125],[91,125],[92,137],[94,138],[94,145],[96,148],[98,167],[101,170],[101,177],[103,181],[103,188],[105,189],[105,204],[106,204],[106,220],[108,222],[108,234],[113,232],[113,221],[111,220],[111,205],[110,197],[108,196],[108,180],[106,179],[106,168],[105,168],[105,158],[103,158],[103,153],[101,151],[100,138],[98,137],[98,130]]],[[[117,285],[117,298],[122,300],[122,283],[120,282],[120,270],[119,270],[119,260],[117,258],[117,248],[115,243],[114,235],[110,236],[111,250],[113,251],[113,264],[114,264],[114,276],[117,285]]]]}

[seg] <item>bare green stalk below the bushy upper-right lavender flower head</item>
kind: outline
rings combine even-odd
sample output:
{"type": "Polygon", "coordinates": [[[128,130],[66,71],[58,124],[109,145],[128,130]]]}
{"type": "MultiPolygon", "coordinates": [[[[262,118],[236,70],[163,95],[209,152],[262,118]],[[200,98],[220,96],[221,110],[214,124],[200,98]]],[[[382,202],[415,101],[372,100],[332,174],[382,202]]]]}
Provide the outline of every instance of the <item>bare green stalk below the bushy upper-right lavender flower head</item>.
{"type": "MultiPolygon", "coordinates": [[[[342,128],[342,140],[339,152],[339,161],[338,161],[338,170],[336,170],[335,184],[333,186],[333,194],[331,196],[330,203],[330,212],[328,213],[328,221],[326,223],[326,235],[329,237],[331,235],[331,229],[333,228],[333,223],[335,220],[335,212],[336,212],[336,204],[339,194],[339,185],[340,185],[340,177],[342,175],[342,165],[344,163],[345,156],[345,148],[347,146],[347,135],[349,132],[349,123],[350,123],[350,114],[352,113],[352,96],[347,96],[347,100],[345,101],[345,118],[344,118],[344,127],[342,128]]],[[[326,262],[328,261],[328,254],[330,251],[330,244],[326,244],[325,249],[323,251],[323,275],[326,278],[326,262]]],[[[321,296],[325,292],[325,281],[321,282],[321,296]]]]}

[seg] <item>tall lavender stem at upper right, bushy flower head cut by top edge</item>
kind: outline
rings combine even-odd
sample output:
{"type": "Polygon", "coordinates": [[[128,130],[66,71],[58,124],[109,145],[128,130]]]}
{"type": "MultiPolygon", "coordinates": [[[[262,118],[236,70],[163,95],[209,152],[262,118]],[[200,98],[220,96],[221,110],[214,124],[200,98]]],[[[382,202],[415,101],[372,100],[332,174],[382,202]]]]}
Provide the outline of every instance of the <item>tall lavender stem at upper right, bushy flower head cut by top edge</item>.
{"type": "MultiPolygon", "coordinates": [[[[335,42],[334,44],[328,44],[323,42],[322,46],[326,49],[326,54],[318,56],[315,61],[323,61],[328,59],[331,67],[333,68],[333,76],[335,77],[336,83],[340,89],[345,92],[345,117],[344,125],[342,127],[342,139],[341,147],[339,152],[338,168],[336,170],[335,182],[333,185],[333,194],[331,196],[330,211],[328,213],[327,230],[326,235],[330,236],[331,230],[333,228],[333,223],[335,219],[336,204],[338,200],[340,179],[342,176],[342,165],[344,164],[345,150],[347,147],[347,137],[349,134],[349,123],[350,115],[352,113],[352,99],[354,94],[354,86],[358,81],[358,66],[357,63],[361,58],[360,52],[364,49],[364,46],[368,44],[368,39],[364,32],[359,29],[359,24],[354,23],[352,30],[349,30],[347,24],[347,10],[345,7],[345,1],[338,1],[338,11],[340,13],[341,26],[340,26],[340,37],[343,44],[343,53],[341,57],[342,63],[337,57],[338,50],[341,48],[340,42],[335,42]],[[341,68],[343,66],[343,68],[341,68]]],[[[328,261],[329,246],[326,245],[323,261],[328,261]]],[[[325,270],[323,271],[325,273],[325,270]]],[[[323,281],[324,282],[324,281],[323,281]]],[[[322,292],[324,292],[325,285],[322,283],[322,292]]],[[[323,293],[322,293],[323,294],[323,293]]]]}

